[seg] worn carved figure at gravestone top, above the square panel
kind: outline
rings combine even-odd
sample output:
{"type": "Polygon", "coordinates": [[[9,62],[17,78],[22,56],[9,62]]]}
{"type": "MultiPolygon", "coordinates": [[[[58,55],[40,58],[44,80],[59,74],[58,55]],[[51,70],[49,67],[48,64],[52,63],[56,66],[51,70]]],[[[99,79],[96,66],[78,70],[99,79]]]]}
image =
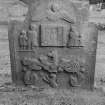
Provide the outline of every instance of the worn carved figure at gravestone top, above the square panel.
{"type": "Polygon", "coordinates": [[[66,11],[61,0],[53,0],[50,2],[47,12],[49,14],[47,18],[50,20],[61,19],[69,23],[75,22],[74,17],[66,11]]]}

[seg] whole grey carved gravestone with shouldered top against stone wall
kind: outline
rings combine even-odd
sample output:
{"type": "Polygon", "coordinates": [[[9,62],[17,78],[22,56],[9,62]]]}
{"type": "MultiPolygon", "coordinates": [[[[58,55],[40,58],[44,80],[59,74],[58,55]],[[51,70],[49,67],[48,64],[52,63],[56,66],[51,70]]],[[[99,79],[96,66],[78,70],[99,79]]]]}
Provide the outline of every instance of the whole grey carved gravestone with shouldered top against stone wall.
{"type": "Polygon", "coordinates": [[[93,89],[97,36],[96,25],[83,22],[70,0],[33,0],[25,21],[9,24],[13,82],[93,89]]]}

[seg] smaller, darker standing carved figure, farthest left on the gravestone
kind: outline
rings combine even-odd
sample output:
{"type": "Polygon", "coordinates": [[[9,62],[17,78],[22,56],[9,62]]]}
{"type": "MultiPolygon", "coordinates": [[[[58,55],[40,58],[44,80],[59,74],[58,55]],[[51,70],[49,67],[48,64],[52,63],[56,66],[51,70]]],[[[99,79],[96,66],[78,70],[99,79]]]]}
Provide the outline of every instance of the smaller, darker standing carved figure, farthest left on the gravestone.
{"type": "Polygon", "coordinates": [[[25,30],[23,30],[19,35],[19,46],[22,50],[28,49],[28,36],[25,30]]]}

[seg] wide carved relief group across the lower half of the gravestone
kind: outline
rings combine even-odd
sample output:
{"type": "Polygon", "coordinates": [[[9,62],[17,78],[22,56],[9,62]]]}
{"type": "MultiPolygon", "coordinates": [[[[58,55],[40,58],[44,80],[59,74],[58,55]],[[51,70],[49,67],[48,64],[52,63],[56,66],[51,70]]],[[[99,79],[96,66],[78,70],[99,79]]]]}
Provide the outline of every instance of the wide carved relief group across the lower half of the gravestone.
{"type": "Polygon", "coordinates": [[[84,79],[84,72],[82,64],[78,61],[77,57],[72,57],[71,60],[62,59],[59,64],[56,63],[53,52],[49,52],[48,55],[42,55],[39,58],[24,58],[21,60],[22,70],[25,72],[24,81],[27,85],[35,83],[38,80],[36,72],[46,72],[47,75],[43,75],[42,80],[49,84],[51,87],[57,87],[57,74],[65,72],[69,74],[69,85],[71,87],[80,86],[80,78],[84,79]]]}

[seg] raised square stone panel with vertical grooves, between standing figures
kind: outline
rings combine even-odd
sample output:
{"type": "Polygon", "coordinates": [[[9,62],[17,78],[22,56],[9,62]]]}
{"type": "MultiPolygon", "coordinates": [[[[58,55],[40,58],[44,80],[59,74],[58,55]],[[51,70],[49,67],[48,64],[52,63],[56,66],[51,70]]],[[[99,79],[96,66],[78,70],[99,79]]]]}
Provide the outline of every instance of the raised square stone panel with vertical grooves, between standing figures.
{"type": "Polygon", "coordinates": [[[41,46],[66,46],[66,26],[41,25],[41,46]]]}

